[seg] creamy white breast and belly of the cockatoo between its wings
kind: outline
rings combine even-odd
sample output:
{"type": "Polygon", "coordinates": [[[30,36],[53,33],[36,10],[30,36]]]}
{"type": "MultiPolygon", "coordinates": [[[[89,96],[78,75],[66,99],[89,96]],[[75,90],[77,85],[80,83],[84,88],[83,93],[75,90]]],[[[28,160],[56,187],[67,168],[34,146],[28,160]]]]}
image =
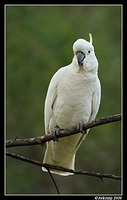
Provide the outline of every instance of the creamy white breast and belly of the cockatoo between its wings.
{"type": "Polygon", "coordinates": [[[57,88],[53,115],[60,128],[69,128],[79,120],[88,122],[91,115],[92,85],[71,74],[61,79],[57,88]]]}

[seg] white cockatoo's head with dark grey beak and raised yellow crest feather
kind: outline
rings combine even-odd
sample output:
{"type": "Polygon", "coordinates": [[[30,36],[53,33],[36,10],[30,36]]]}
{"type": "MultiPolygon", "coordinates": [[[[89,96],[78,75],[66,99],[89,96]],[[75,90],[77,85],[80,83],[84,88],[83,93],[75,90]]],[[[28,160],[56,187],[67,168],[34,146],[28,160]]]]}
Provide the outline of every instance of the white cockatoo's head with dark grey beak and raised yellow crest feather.
{"type": "Polygon", "coordinates": [[[84,39],[78,39],[73,44],[73,62],[77,71],[84,69],[85,72],[97,73],[98,61],[92,45],[92,35],[89,35],[90,42],[87,42],[84,39]]]}

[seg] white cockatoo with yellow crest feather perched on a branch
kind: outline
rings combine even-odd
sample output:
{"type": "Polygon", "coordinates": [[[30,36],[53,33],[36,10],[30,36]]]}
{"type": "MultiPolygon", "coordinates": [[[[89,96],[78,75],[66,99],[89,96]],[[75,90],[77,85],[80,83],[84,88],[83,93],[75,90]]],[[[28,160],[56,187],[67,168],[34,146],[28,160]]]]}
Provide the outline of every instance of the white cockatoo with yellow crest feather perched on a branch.
{"type": "MultiPolygon", "coordinates": [[[[73,44],[72,63],[60,68],[52,77],[45,100],[45,134],[53,133],[55,140],[60,129],[77,125],[79,133],[58,142],[49,141],[43,163],[74,169],[75,155],[85,139],[83,123],[95,119],[101,97],[98,61],[90,42],[78,39],[73,44]]],[[[42,167],[43,171],[47,171],[42,167]]],[[[72,173],[50,169],[59,175],[72,173]]]]}

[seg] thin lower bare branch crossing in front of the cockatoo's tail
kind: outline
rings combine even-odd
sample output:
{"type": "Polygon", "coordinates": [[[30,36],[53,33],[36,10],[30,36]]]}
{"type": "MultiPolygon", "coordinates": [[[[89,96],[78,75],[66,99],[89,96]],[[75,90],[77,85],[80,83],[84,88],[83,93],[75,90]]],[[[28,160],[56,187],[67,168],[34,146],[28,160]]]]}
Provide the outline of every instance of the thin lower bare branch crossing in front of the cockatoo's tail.
{"type": "Polygon", "coordinates": [[[102,173],[98,173],[98,172],[72,170],[72,169],[61,167],[61,166],[43,164],[42,162],[31,160],[31,159],[26,158],[24,156],[20,156],[20,155],[17,155],[17,154],[14,154],[14,153],[9,153],[9,152],[6,152],[6,155],[9,156],[9,157],[12,157],[12,158],[16,158],[18,160],[22,160],[22,161],[25,161],[25,162],[37,165],[37,166],[41,166],[41,167],[43,166],[46,169],[56,169],[56,170],[60,170],[60,171],[70,172],[72,174],[94,176],[94,177],[100,178],[101,180],[103,178],[110,178],[110,179],[115,179],[115,180],[121,180],[120,176],[116,176],[116,175],[112,175],[112,174],[102,174],[102,173]]]}

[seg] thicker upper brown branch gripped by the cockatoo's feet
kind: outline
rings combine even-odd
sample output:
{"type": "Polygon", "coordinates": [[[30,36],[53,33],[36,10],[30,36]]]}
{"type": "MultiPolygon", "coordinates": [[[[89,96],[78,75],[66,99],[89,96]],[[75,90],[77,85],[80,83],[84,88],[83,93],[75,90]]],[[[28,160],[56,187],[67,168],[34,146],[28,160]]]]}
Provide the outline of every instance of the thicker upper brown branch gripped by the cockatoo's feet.
{"type": "MultiPolygon", "coordinates": [[[[120,120],[121,120],[121,114],[103,117],[103,118],[96,119],[94,121],[84,124],[84,130],[93,128],[95,126],[100,126],[103,124],[120,121],[120,120]]],[[[77,129],[77,127],[73,126],[69,129],[61,130],[58,138],[73,135],[78,132],[79,132],[79,130],[77,129]]],[[[6,147],[39,145],[39,144],[44,144],[45,142],[50,141],[50,140],[53,140],[52,134],[48,134],[48,135],[40,136],[40,137],[34,137],[34,138],[25,138],[25,139],[15,138],[13,140],[7,140],[6,147]]]]}

